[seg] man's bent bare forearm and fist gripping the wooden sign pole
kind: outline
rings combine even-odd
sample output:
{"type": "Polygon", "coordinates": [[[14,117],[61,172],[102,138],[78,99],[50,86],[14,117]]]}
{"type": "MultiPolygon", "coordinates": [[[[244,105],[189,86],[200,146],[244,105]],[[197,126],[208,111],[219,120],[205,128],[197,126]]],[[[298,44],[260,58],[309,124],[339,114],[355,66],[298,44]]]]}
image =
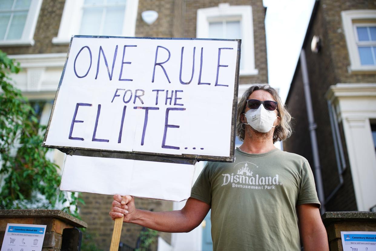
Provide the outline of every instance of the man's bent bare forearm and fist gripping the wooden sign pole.
{"type": "Polygon", "coordinates": [[[138,224],[157,231],[168,233],[189,232],[196,228],[210,209],[210,205],[198,199],[189,198],[181,210],[166,212],[150,212],[135,208],[132,196],[114,195],[110,216],[120,218],[124,214],[124,222],[138,224]]]}

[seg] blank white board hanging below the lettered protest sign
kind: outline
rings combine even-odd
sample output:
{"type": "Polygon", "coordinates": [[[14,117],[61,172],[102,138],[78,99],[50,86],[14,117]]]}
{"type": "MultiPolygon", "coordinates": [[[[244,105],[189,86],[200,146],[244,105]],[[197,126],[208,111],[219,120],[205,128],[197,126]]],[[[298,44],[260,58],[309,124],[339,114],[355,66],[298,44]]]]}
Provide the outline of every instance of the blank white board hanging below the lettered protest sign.
{"type": "Polygon", "coordinates": [[[194,169],[189,164],[67,155],[60,189],[183,201],[191,196],[194,169]]]}

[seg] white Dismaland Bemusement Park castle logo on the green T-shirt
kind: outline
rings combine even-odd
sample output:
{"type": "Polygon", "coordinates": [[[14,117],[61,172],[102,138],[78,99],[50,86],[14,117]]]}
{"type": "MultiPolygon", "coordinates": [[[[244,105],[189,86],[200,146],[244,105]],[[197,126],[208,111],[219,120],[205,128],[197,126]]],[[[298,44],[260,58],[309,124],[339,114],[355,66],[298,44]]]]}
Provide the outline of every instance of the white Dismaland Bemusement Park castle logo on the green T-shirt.
{"type": "Polygon", "coordinates": [[[259,176],[257,174],[258,166],[250,162],[240,162],[234,166],[234,173],[225,173],[222,186],[230,183],[231,187],[246,189],[276,189],[276,186],[282,186],[279,181],[279,175],[259,176]],[[256,172],[256,174],[255,174],[256,172]]]}

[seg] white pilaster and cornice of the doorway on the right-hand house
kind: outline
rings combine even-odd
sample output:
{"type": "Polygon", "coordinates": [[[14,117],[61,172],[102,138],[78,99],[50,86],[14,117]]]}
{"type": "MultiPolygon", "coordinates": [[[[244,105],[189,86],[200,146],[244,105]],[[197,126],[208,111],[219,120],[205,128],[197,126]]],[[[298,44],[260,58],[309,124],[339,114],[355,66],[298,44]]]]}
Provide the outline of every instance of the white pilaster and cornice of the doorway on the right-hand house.
{"type": "Polygon", "coordinates": [[[369,211],[376,205],[376,153],[370,126],[370,119],[376,118],[376,83],[338,83],[326,96],[343,124],[358,210],[369,211]]]}

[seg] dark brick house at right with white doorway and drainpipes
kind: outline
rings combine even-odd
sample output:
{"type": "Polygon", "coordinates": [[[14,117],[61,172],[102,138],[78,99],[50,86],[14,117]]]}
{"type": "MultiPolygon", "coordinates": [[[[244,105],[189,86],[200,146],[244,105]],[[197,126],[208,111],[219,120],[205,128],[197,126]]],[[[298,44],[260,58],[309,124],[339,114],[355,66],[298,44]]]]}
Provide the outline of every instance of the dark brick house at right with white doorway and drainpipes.
{"type": "Polygon", "coordinates": [[[283,146],[306,157],[312,169],[320,168],[321,177],[315,179],[322,180],[321,201],[327,211],[370,211],[376,205],[371,192],[376,189],[371,182],[376,178],[371,129],[376,61],[365,61],[369,55],[363,53],[372,52],[375,44],[373,1],[316,1],[286,100],[294,134],[283,146]],[[361,37],[364,30],[369,37],[361,37]],[[320,41],[312,42],[317,37],[320,41]],[[304,85],[309,86],[307,94],[304,85]],[[308,119],[310,97],[314,121],[308,119]],[[316,137],[310,136],[312,131],[316,137]]]}

